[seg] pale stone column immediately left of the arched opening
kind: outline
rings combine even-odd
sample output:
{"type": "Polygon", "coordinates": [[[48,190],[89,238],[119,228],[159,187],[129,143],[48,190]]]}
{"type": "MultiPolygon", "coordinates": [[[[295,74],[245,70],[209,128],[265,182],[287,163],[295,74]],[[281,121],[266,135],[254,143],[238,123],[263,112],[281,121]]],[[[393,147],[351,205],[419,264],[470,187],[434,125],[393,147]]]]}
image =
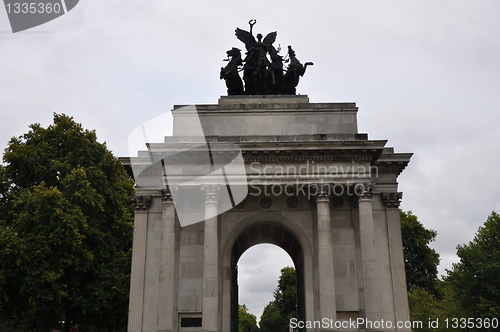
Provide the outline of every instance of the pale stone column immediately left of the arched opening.
{"type": "Polygon", "coordinates": [[[219,328],[219,241],[217,227],[217,199],[220,185],[202,185],[205,194],[205,234],[203,250],[202,330],[219,328]]]}

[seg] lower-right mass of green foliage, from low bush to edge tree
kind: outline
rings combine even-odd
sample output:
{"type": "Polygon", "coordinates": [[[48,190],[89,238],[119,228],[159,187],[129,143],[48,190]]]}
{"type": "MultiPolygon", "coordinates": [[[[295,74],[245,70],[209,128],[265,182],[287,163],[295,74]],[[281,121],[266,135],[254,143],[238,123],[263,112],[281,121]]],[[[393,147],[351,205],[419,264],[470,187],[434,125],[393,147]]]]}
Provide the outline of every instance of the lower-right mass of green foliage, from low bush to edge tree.
{"type": "MultiPolygon", "coordinates": [[[[413,286],[408,293],[410,316],[424,322],[414,331],[492,331],[491,328],[453,328],[453,318],[498,318],[500,314],[500,216],[492,212],[474,239],[457,247],[460,261],[453,264],[448,277],[438,281],[435,290],[413,286]],[[437,295],[436,295],[437,294],[437,295]],[[438,328],[428,326],[439,319],[438,328]],[[446,328],[445,320],[450,325],[446,328]]],[[[408,272],[407,272],[408,273],[408,272]]],[[[455,324],[457,322],[455,321],[455,324]]]]}

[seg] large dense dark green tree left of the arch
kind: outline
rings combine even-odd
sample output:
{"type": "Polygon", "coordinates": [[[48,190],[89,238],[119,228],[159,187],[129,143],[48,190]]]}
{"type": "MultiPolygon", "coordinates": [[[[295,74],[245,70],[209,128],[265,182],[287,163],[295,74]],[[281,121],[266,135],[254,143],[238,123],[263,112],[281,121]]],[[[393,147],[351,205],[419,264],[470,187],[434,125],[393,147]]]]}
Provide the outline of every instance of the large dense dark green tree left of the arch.
{"type": "Polygon", "coordinates": [[[58,114],[12,138],[3,159],[0,321],[124,330],[133,181],[123,165],[94,131],[58,114]]]}

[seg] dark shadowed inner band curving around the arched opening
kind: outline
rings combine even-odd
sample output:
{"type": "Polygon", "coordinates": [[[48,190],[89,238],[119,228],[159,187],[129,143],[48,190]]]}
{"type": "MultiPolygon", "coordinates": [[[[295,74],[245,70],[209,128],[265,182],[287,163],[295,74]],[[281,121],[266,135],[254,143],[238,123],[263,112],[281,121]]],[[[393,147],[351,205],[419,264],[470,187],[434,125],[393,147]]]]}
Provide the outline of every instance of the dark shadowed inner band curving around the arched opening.
{"type": "Polygon", "coordinates": [[[295,265],[297,280],[297,318],[305,320],[304,253],[291,229],[276,221],[260,221],[249,225],[236,238],[231,250],[231,331],[238,331],[238,270],[241,255],[249,248],[274,244],[285,250],[295,265]]]}

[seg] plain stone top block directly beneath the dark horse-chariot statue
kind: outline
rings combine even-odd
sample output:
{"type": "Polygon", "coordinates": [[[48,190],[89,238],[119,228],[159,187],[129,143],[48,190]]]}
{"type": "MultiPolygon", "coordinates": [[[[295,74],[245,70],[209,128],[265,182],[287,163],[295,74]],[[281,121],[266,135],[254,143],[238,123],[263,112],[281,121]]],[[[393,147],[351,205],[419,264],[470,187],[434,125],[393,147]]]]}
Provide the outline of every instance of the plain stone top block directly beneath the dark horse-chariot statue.
{"type": "Polygon", "coordinates": [[[222,97],[218,105],[175,106],[174,136],[199,117],[205,136],[357,133],[355,103],[311,104],[307,96],[222,97]]]}

